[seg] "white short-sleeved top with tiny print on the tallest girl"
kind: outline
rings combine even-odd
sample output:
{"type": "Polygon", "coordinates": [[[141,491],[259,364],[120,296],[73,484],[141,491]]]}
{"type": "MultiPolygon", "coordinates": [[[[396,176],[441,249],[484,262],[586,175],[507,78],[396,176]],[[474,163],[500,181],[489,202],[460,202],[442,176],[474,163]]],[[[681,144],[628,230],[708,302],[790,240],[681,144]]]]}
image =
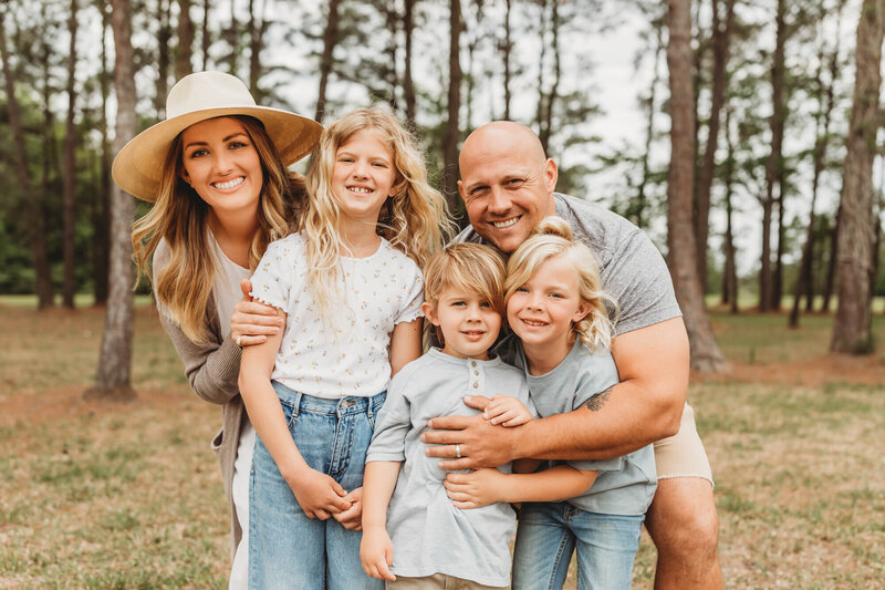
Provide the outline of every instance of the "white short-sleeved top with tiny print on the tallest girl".
{"type": "Polygon", "coordinates": [[[337,400],[375,395],[391,381],[394,327],[421,317],[417,265],[381,239],[365,258],[341,257],[344,286],[324,318],[309,282],[301,234],[271,242],[252,276],[251,296],[288,314],[271,379],[337,400]]]}

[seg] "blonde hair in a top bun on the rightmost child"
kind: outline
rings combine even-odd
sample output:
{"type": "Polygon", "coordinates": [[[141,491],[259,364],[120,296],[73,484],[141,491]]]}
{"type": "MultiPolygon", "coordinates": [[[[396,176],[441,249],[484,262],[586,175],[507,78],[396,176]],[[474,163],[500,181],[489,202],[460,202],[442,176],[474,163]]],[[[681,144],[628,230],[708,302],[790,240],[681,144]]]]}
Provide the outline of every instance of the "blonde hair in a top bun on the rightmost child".
{"type": "Polygon", "coordinates": [[[525,284],[541,266],[551,258],[563,258],[577,275],[577,296],[590,308],[581,321],[572,323],[569,342],[580,338],[591,351],[608,349],[614,337],[614,322],[608,318],[606,303],[617,315],[617,302],[602,290],[600,267],[593,251],[581,242],[572,241],[572,230],[561,217],[546,217],[507,262],[504,301],[509,302],[517,289],[525,284]]]}

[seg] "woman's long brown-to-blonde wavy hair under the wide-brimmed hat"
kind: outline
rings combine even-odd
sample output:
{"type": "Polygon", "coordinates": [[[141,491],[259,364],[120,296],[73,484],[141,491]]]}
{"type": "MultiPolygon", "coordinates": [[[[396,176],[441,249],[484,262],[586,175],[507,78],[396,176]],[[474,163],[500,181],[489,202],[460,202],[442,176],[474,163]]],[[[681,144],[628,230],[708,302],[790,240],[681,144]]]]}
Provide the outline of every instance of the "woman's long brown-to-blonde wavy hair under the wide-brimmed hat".
{"type": "MultiPolygon", "coordinates": [[[[285,236],[295,210],[303,207],[303,178],[285,169],[264,126],[249,116],[233,115],[252,141],[261,162],[263,184],[259,196],[258,229],[249,247],[249,268],[254,268],[268,244],[285,236]]],[[[209,206],[188,185],[181,173],[184,158],[179,134],[166,156],[159,195],[154,207],[133,224],[133,259],[138,278],[154,283],[157,300],[194,342],[205,342],[206,314],[216,272],[207,241],[209,206]],[[169,247],[169,260],[155,277],[148,265],[160,239],[169,247]]],[[[137,279],[136,279],[137,283],[137,279]]]]}

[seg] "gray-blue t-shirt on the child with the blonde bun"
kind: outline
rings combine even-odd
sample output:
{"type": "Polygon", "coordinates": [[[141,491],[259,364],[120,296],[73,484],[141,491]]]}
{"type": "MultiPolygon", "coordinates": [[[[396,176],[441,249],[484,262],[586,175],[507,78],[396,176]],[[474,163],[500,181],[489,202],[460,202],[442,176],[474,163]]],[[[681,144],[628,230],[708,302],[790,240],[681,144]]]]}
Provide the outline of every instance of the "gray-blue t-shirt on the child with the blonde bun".
{"type": "MultiPolygon", "coordinates": [[[[507,338],[496,351],[502,359],[524,371],[531,401],[541,417],[577,410],[591,397],[618,382],[617,368],[611,352],[604,349],[590,352],[580,340],[555,369],[537,376],[529,374],[518,338],[507,338]]],[[[657,487],[652,445],[613,459],[552,463],[568,463],[575,469],[600,472],[589,490],[568,500],[572,506],[589,513],[644,515],[657,487]]]]}

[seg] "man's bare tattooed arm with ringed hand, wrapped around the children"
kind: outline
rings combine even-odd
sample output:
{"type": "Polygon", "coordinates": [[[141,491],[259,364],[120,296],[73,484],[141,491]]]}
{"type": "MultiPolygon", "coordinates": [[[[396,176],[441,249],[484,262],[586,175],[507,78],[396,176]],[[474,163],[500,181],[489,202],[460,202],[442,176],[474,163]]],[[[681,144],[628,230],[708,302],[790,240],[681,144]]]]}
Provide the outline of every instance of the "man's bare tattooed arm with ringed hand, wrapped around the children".
{"type": "MultiPolygon", "coordinates": [[[[621,383],[573,412],[499,428],[482,416],[433,418],[421,439],[444,469],[496,467],[521,457],[606,459],[674,435],[688,390],[688,335],[674,318],[614,339],[621,383]],[[460,459],[455,445],[459,444],[460,459]]],[[[477,405],[485,403],[477,400],[477,405]]],[[[470,405],[470,404],[468,404],[470,405]]]]}

